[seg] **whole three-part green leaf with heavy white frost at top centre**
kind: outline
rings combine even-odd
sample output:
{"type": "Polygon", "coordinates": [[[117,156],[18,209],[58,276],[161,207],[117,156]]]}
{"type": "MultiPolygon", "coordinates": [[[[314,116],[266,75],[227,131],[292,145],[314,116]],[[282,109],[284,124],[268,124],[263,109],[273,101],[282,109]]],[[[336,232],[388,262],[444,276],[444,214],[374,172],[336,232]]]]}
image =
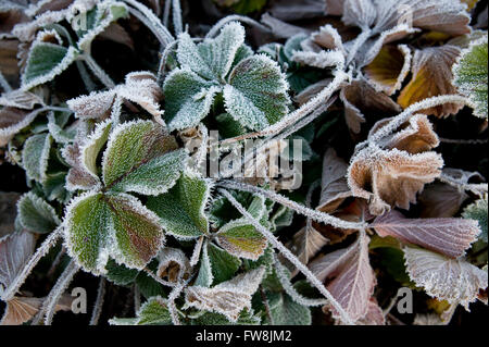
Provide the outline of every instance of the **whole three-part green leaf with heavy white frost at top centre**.
{"type": "Polygon", "coordinates": [[[223,92],[226,111],[242,126],[262,129],[288,112],[287,82],[265,55],[251,55],[243,46],[244,29],[226,25],[216,38],[196,46],[188,34],[178,38],[179,69],[166,77],[165,120],[171,129],[196,126],[223,92]]]}

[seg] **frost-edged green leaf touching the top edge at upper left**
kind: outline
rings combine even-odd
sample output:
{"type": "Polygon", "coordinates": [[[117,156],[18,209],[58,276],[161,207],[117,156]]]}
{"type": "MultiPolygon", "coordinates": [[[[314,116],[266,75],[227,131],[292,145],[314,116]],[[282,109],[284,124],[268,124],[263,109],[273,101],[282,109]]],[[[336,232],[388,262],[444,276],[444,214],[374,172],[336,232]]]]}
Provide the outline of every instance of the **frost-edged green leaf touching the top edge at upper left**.
{"type": "MultiPolygon", "coordinates": [[[[76,42],[77,47],[84,51],[89,51],[91,41],[98,35],[103,33],[111,23],[121,17],[126,17],[128,14],[129,11],[124,2],[112,0],[98,2],[96,8],[90,9],[83,14],[78,14],[86,15],[88,25],[86,29],[76,29],[76,34],[78,35],[78,41],[76,42]]],[[[74,26],[76,21],[77,18],[75,17],[72,26],[74,26]]],[[[79,25],[74,26],[74,29],[77,28],[77,26],[79,25]]]]}

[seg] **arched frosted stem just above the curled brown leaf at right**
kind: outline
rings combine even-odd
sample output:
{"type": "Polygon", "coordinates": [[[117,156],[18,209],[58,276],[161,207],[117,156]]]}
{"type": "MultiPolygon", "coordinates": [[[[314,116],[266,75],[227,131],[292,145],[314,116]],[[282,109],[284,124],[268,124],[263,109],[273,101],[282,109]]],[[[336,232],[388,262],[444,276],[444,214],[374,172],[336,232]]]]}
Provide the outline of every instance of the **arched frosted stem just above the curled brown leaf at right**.
{"type": "Polygon", "coordinates": [[[430,109],[444,103],[463,103],[466,106],[471,106],[471,101],[466,97],[460,95],[444,95],[424,99],[411,104],[404,111],[394,116],[389,123],[378,129],[374,135],[372,135],[372,137],[367,141],[359,144],[358,147],[362,148],[368,142],[378,142],[384,137],[389,136],[398,127],[408,122],[408,120],[413,115],[414,112],[430,109]]]}

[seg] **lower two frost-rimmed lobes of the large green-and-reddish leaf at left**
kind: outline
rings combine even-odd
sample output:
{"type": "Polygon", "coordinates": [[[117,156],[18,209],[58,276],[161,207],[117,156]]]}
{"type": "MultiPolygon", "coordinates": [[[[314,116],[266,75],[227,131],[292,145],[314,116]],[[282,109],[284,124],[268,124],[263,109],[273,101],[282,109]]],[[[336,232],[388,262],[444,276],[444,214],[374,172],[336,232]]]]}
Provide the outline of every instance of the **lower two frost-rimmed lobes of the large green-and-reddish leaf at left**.
{"type": "Polygon", "coordinates": [[[164,241],[158,216],[126,194],[90,191],[73,199],[64,225],[72,258],[95,274],[106,272],[109,257],[141,270],[164,241]]]}

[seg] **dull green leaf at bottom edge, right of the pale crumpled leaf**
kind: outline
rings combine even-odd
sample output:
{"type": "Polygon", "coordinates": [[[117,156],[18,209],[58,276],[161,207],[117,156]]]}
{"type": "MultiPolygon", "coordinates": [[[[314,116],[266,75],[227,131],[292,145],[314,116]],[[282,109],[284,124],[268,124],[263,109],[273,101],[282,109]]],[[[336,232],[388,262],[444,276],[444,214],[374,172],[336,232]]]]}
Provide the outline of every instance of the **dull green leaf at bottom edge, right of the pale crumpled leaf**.
{"type": "MultiPolygon", "coordinates": [[[[310,308],[297,303],[285,293],[268,294],[268,305],[276,325],[311,325],[310,308]]],[[[268,321],[267,318],[266,321],[268,321]]]]}

